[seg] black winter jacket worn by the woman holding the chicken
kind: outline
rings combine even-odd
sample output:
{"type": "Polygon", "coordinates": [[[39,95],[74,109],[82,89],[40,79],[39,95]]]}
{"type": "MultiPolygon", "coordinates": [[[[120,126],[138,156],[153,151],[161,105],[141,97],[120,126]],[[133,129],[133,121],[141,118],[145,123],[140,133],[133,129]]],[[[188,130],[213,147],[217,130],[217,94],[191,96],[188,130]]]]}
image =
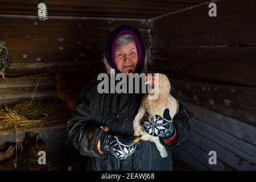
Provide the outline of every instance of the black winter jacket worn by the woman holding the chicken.
{"type": "MultiPolygon", "coordinates": [[[[172,86],[173,88],[173,86],[172,86]]],[[[175,93],[171,91],[172,96],[175,93]]],[[[133,135],[133,119],[139,110],[143,94],[99,94],[97,84],[81,93],[75,116],[68,121],[69,137],[81,155],[89,156],[88,170],[172,170],[172,146],[164,146],[168,157],[161,158],[154,143],[140,141],[133,155],[118,160],[112,154],[101,155],[97,150],[100,126],[107,126],[117,135],[133,135]]],[[[173,121],[178,129],[178,144],[182,144],[188,133],[188,115],[179,102],[179,111],[173,121]]]]}

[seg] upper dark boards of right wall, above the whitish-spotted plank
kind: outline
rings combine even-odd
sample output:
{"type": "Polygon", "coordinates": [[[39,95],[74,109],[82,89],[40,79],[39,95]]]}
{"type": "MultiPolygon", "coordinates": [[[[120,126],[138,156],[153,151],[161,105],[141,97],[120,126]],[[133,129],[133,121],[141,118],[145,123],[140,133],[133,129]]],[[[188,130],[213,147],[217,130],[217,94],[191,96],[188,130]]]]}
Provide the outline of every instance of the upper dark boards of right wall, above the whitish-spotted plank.
{"type": "Polygon", "coordinates": [[[256,3],[216,4],[213,18],[204,5],[152,19],[150,66],[165,69],[172,61],[168,71],[256,86],[256,3]]]}

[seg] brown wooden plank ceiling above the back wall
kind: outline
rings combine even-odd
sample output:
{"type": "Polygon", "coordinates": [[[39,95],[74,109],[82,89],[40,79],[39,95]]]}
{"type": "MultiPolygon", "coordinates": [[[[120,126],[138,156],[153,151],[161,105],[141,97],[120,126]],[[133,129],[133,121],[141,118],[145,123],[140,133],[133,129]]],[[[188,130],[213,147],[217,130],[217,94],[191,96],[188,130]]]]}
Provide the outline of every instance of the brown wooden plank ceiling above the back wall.
{"type": "MultiPolygon", "coordinates": [[[[108,16],[150,18],[183,9],[203,1],[47,1],[48,14],[65,16],[108,16]]],[[[2,14],[36,14],[36,1],[9,1],[0,3],[2,14]]]]}

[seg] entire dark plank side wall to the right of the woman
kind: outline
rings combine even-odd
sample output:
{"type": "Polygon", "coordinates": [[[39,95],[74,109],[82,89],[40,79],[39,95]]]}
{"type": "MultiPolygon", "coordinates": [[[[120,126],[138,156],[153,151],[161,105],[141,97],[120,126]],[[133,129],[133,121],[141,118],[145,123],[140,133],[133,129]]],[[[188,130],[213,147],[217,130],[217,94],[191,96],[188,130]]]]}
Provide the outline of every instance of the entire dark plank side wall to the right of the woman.
{"type": "Polygon", "coordinates": [[[218,1],[150,19],[149,72],[166,73],[192,113],[174,157],[195,169],[256,169],[256,2],[218,1]],[[217,152],[209,165],[208,152],[217,152]]]}

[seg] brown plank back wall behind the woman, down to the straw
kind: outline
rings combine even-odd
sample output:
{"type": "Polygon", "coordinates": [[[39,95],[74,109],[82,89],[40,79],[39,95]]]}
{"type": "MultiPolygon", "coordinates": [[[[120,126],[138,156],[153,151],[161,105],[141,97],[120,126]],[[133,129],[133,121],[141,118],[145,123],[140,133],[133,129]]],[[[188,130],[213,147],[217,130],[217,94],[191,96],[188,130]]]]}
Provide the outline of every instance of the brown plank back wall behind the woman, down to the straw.
{"type": "Polygon", "coordinates": [[[0,39],[6,40],[13,60],[7,83],[0,81],[0,104],[31,98],[39,77],[42,85],[35,97],[56,95],[55,73],[80,75],[85,84],[97,78],[105,72],[105,42],[121,24],[139,28],[149,44],[146,19],[51,16],[42,22],[35,16],[0,16],[0,39]]]}

